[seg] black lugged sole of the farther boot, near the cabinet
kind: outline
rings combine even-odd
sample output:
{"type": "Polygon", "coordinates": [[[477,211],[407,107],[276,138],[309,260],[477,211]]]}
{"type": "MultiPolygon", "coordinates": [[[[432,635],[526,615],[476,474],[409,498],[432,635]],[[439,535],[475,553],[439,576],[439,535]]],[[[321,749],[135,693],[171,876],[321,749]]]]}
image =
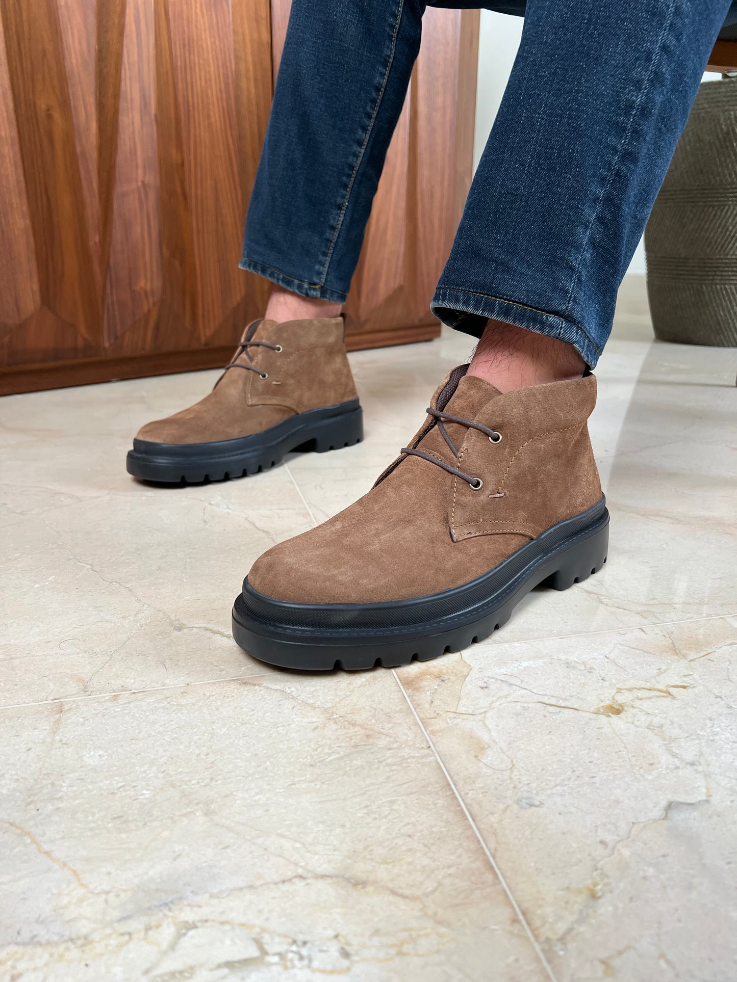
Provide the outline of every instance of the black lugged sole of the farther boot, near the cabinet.
{"type": "Polygon", "coordinates": [[[363,410],[358,399],[337,406],[310,409],[291,416],[260,433],[236,440],[169,444],[133,441],[126,467],[142,481],[163,484],[198,484],[245,477],[268,470],[293,450],[328,450],[352,447],[364,439],[363,410]]]}

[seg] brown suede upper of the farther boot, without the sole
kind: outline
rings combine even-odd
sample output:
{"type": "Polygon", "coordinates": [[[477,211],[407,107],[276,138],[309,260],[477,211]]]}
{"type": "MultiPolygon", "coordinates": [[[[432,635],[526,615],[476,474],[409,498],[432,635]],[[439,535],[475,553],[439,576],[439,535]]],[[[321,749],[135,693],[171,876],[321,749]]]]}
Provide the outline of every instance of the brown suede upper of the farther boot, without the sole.
{"type": "Polygon", "coordinates": [[[255,321],[244,340],[266,341],[281,351],[247,348],[209,395],[189,409],[146,423],[137,439],[166,444],[231,440],[296,413],[357,398],[341,317],[255,321]]]}

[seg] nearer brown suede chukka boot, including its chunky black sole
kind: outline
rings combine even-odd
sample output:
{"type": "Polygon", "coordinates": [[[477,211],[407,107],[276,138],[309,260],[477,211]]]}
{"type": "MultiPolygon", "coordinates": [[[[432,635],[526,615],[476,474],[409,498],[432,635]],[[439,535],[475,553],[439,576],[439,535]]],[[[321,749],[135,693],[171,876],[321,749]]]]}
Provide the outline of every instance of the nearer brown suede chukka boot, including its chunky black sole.
{"type": "Polygon", "coordinates": [[[455,368],[369,494],[258,559],[233,634],[272,665],[403,665],[486,637],[606,561],[593,375],[504,395],[455,368]]]}

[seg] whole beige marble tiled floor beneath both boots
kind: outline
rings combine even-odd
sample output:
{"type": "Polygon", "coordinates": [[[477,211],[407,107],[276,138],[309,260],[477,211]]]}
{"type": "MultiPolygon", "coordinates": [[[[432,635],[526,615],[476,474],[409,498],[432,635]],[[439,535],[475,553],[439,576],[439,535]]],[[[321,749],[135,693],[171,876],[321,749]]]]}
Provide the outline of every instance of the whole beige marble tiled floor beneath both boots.
{"type": "Polygon", "coordinates": [[[366,442],[224,484],[124,464],[213,373],[0,401],[0,978],[737,979],[737,353],[641,327],[605,572],[396,673],[272,671],[230,606],[468,340],[352,355],[366,442]]]}

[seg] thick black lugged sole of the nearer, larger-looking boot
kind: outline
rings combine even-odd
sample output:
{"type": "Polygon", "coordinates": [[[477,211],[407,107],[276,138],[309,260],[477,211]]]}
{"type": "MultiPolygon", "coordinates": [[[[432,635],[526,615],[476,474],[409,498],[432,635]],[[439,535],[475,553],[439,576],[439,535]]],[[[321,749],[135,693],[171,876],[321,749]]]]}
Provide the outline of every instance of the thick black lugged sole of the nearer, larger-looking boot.
{"type": "Polygon", "coordinates": [[[566,590],[606,562],[604,499],[558,522],[504,563],[451,590],[371,604],[292,604],[248,581],[233,607],[233,637],[254,658],[279,668],[329,672],[396,668],[482,641],[507,623],[536,586],[566,590]]]}

